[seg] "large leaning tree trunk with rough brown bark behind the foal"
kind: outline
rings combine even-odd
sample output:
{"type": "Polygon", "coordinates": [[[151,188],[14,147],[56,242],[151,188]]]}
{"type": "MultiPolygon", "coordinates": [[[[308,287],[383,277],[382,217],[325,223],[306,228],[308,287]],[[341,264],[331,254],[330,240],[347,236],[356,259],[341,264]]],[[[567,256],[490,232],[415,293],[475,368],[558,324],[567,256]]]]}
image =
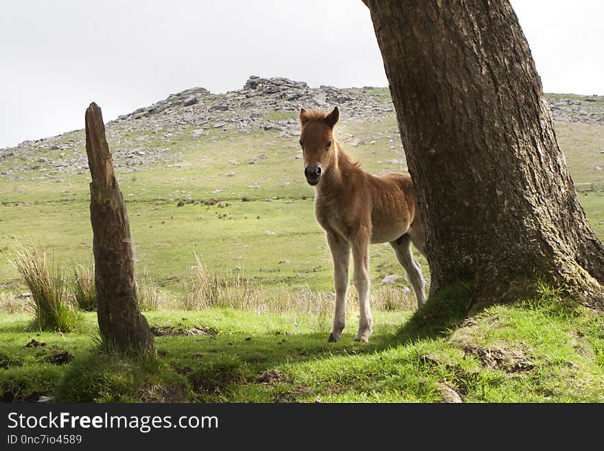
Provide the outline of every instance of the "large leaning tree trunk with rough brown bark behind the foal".
{"type": "Polygon", "coordinates": [[[475,308],[542,279],[604,307],[604,246],[577,200],[507,0],[364,0],[417,189],[430,294],[475,308]]]}

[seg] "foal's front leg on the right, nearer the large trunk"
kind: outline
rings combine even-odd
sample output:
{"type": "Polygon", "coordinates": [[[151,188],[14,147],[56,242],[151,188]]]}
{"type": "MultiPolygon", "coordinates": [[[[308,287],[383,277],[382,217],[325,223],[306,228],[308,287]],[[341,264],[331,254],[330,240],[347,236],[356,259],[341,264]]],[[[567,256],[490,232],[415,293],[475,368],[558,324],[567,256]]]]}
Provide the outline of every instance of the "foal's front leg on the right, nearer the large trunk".
{"type": "Polygon", "coordinates": [[[354,286],[359,297],[359,331],[355,340],[369,342],[373,332],[369,306],[369,235],[357,235],[351,240],[354,259],[354,286]]]}

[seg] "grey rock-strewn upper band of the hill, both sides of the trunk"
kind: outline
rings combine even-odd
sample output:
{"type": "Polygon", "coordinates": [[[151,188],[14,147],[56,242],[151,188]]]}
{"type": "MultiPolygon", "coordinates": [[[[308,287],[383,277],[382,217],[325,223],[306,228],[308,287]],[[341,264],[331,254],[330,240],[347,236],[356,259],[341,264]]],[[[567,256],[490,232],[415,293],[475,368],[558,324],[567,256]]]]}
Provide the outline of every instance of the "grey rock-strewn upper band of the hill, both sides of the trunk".
{"type": "MultiPolygon", "coordinates": [[[[565,122],[604,124],[604,97],[548,95],[554,118],[565,122]]],[[[216,133],[236,135],[268,131],[280,137],[295,137],[301,108],[332,108],[338,105],[344,120],[373,121],[395,116],[388,89],[311,88],[287,78],[251,76],[242,89],[212,94],[191,88],[138,108],[106,124],[108,140],[117,166],[169,163],[178,157],[175,137],[216,140],[216,133]]],[[[85,172],[83,130],[23,141],[0,150],[0,179],[56,178],[85,172]],[[30,172],[36,170],[35,176],[30,172]]]]}

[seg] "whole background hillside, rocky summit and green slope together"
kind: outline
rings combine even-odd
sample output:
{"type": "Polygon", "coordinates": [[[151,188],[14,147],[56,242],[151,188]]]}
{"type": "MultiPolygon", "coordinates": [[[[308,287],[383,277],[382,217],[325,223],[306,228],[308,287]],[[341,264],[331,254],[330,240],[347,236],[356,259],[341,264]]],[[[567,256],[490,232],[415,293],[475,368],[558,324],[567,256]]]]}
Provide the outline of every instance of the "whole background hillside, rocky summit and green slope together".
{"type": "MultiPolygon", "coordinates": [[[[604,182],[604,97],[548,100],[574,181],[604,182]]],[[[237,91],[187,89],[108,122],[139,270],[180,292],[198,253],[218,273],[242,272],[264,288],[330,292],[331,258],[303,178],[297,111],[334,105],[337,137],[366,170],[406,170],[387,88],[252,76],[237,91]]],[[[84,146],[76,130],[0,150],[0,288],[16,284],[7,262],[15,239],[91,265],[84,146]]],[[[600,199],[585,197],[583,206],[602,235],[600,199]]],[[[371,259],[374,282],[401,273],[387,246],[373,246],[371,259]]]]}

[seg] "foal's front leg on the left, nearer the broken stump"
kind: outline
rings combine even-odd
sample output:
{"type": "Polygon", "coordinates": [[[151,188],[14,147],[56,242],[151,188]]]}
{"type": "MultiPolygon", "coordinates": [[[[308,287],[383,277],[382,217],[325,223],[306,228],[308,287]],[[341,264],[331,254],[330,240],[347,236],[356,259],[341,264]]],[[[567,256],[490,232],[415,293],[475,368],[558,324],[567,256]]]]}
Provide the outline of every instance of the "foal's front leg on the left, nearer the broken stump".
{"type": "Polygon", "coordinates": [[[346,324],[346,293],[348,292],[348,265],[350,244],[336,233],[327,232],[327,244],[334,259],[334,288],[336,288],[336,312],[334,327],[327,341],[340,341],[346,324]]]}

